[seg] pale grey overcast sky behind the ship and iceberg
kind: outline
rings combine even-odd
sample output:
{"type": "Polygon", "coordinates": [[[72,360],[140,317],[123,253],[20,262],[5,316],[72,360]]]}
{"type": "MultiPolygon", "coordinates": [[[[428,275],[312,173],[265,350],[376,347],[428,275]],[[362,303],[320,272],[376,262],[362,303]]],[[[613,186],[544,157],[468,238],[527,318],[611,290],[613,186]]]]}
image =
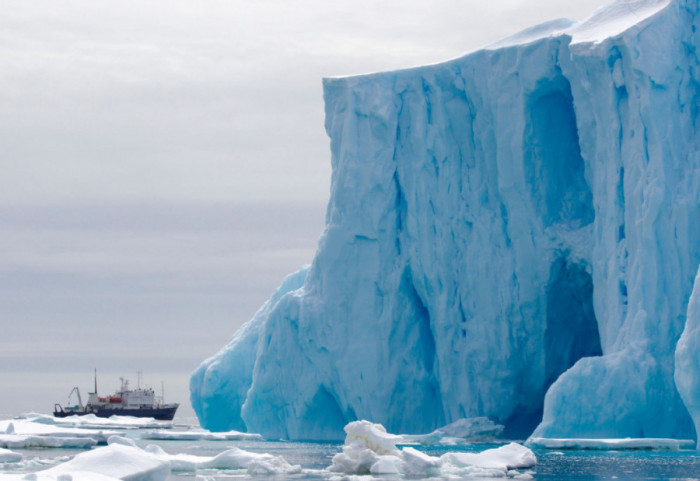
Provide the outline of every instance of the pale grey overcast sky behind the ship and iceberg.
{"type": "Polygon", "coordinates": [[[311,262],[321,78],[458,57],[600,0],[5,0],[0,416],[92,369],[187,383],[311,262]]]}

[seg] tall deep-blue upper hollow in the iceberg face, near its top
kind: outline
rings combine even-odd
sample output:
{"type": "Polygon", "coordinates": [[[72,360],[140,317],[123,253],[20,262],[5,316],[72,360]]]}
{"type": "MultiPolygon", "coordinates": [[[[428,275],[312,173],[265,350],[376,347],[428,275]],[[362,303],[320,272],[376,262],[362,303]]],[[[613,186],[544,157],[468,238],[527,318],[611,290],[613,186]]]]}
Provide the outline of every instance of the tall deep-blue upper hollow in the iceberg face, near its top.
{"type": "Polygon", "coordinates": [[[545,227],[582,227],[595,216],[584,175],[574,99],[561,75],[540,81],[525,106],[523,160],[533,207],[545,227]]]}

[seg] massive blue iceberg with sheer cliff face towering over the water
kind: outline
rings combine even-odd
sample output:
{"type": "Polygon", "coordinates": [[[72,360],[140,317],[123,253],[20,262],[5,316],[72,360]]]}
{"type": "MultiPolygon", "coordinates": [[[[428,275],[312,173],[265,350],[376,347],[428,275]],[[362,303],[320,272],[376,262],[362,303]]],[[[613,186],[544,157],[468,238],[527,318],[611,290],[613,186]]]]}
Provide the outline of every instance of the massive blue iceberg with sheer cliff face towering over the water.
{"type": "Polygon", "coordinates": [[[193,374],[202,425],[695,438],[699,24],[697,0],[618,1],[324,80],[318,251],[193,374]]]}

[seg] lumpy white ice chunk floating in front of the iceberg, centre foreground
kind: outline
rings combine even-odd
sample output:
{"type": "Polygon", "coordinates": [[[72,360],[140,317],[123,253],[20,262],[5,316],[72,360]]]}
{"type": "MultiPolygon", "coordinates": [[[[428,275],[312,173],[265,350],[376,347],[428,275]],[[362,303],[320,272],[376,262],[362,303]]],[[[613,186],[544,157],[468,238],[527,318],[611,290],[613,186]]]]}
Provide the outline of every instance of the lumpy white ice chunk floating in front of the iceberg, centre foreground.
{"type": "Polygon", "coordinates": [[[487,476],[518,474],[517,469],[537,464],[534,453],[510,443],[480,453],[449,452],[440,457],[396,444],[403,436],[389,434],[381,424],[355,421],[345,426],[347,436],[341,453],[333,456],[329,471],[343,474],[401,474],[406,476],[487,476]]]}

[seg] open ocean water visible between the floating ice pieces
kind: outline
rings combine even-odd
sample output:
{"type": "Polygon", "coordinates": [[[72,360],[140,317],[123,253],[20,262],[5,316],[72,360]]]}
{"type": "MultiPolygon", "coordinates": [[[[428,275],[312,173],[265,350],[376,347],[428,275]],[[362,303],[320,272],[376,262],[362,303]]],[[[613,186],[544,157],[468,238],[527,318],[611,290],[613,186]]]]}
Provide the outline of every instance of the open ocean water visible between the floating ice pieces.
{"type": "MultiPolygon", "coordinates": [[[[331,458],[342,449],[342,444],[299,443],[285,441],[155,441],[138,439],[138,430],[125,435],[139,446],[157,444],[171,454],[187,453],[215,456],[231,447],[257,453],[283,456],[290,464],[303,468],[293,475],[250,475],[245,470],[199,469],[196,472],[172,473],[169,481],[213,480],[329,480],[337,479],[336,473],[324,472],[331,458]]],[[[451,447],[417,447],[430,455],[447,451],[478,452],[497,444],[472,444],[451,447]]],[[[415,447],[415,446],[414,446],[415,447]]],[[[21,463],[0,463],[0,479],[3,473],[30,473],[65,462],[82,450],[76,449],[13,449],[23,455],[21,463]]],[[[551,451],[534,450],[537,466],[521,470],[525,479],[535,480],[700,480],[700,453],[698,451],[551,451]]],[[[366,476],[362,479],[426,479],[393,475],[366,476]]],[[[520,478],[520,476],[518,476],[520,478]]],[[[434,478],[433,478],[434,479],[434,478]]],[[[479,479],[479,478],[463,478],[479,479]]]]}

